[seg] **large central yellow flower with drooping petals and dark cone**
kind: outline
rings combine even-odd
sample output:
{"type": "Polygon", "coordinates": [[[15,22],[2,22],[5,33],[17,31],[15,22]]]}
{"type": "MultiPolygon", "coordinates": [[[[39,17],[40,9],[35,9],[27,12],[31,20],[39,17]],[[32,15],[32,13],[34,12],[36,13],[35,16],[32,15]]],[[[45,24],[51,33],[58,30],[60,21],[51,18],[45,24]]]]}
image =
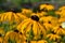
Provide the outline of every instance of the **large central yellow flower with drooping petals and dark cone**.
{"type": "Polygon", "coordinates": [[[35,38],[38,38],[38,35],[40,34],[46,35],[44,28],[38,22],[39,22],[39,17],[36,15],[32,15],[31,18],[28,18],[22,22],[17,26],[17,30],[27,35],[28,35],[28,32],[32,30],[35,38]]]}

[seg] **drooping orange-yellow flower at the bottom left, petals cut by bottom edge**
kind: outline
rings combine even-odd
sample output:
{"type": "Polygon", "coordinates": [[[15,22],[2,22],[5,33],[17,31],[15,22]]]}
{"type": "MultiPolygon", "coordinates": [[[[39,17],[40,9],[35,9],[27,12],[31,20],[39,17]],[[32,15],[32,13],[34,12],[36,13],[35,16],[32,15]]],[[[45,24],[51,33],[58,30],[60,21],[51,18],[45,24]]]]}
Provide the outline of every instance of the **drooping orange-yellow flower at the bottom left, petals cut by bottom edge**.
{"type": "Polygon", "coordinates": [[[17,31],[9,31],[4,37],[3,43],[24,43],[26,40],[24,35],[20,34],[17,31]]]}

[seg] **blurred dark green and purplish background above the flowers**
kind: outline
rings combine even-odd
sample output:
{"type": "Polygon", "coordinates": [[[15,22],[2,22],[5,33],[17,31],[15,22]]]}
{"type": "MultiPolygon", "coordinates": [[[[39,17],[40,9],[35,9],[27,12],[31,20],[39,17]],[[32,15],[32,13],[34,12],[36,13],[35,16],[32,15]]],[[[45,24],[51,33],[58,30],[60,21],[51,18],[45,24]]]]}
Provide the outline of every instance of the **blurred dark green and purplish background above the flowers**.
{"type": "Polygon", "coordinates": [[[0,11],[11,8],[30,8],[34,9],[41,3],[51,3],[55,5],[55,9],[58,6],[65,5],[65,0],[0,0],[0,11]]]}

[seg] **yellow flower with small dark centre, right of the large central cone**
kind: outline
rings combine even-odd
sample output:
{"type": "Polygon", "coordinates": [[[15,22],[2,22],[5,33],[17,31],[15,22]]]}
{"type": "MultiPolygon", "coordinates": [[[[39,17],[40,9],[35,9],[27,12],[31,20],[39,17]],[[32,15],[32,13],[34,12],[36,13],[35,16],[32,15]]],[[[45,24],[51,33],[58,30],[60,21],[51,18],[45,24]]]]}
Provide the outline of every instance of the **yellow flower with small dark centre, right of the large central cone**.
{"type": "Polygon", "coordinates": [[[57,24],[57,18],[52,17],[52,16],[47,16],[47,17],[41,17],[39,20],[47,30],[50,30],[57,24]]]}

